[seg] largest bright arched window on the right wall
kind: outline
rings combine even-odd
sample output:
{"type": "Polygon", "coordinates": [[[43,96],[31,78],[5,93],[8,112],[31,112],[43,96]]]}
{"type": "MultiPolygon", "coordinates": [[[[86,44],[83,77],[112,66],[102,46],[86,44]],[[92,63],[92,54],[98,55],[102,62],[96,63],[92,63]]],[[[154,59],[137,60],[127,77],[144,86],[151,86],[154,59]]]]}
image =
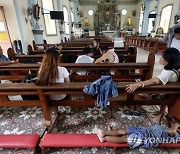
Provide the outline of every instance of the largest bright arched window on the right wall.
{"type": "Polygon", "coordinates": [[[171,12],[172,12],[172,5],[165,6],[161,11],[161,20],[159,26],[163,28],[164,33],[167,33],[168,31],[171,12]]]}

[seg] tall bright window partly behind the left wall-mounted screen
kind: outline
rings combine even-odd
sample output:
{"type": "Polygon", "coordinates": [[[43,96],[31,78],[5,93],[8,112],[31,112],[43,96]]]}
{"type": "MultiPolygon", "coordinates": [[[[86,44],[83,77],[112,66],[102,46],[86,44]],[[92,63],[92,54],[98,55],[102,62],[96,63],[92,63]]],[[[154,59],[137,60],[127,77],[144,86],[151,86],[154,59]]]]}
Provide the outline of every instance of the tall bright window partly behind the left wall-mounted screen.
{"type": "Polygon", "coordinates": [[[44,22],[46,27],[46,34],[47,35],[56,35],[56,23],[55,20],[51,20],[50,18],[50,11],[53,11],[53,2],[52,0],[42,0],[43,5],[43,16],[44,22]]]}

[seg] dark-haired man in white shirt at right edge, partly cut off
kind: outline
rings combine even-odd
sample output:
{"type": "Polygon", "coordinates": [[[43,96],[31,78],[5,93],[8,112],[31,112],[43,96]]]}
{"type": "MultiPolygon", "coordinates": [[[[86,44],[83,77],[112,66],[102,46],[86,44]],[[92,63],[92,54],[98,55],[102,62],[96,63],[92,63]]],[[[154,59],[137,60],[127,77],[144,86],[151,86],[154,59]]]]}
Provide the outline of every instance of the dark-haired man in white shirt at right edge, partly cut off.
{"type": "Polygon", "coordinates": [[[174,37],[172,39],[170,47],[176,48],[180,52],[180,27],[174,30],[174,37]]]}

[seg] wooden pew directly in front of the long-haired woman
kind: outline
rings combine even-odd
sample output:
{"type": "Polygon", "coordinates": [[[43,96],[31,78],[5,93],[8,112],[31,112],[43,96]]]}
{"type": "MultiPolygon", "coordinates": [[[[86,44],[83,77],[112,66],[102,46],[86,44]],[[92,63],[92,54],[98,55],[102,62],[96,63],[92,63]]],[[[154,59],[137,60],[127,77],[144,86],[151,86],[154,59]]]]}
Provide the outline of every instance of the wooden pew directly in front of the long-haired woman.
{"type": "MultiPolygon", "coordinates": [[[[33,56],[33,55],[31,55],[33,56]]],[[[150,53],[147,63],[61,63],[60,65],[67,68],[69,71],[87,70],[87,75],[71,74],[72,81],[93,81],[101,76],[97,71],[113,70],[112,75],[115,81],[135,81],[136,79],[146,80],[152,77],[154,68],[154,53],[150,53]],[[139,69],[140,73],[135,73],[139,69]],[[131,70],[131,71],[128,71],[131,70]],[[123,73],[126,71],[126,73],[123,73]]],[[[11,64],[0,66],[0,71],[15,71],[15,70],[36,70],[38,71],[40,64],[11,64]]]]}

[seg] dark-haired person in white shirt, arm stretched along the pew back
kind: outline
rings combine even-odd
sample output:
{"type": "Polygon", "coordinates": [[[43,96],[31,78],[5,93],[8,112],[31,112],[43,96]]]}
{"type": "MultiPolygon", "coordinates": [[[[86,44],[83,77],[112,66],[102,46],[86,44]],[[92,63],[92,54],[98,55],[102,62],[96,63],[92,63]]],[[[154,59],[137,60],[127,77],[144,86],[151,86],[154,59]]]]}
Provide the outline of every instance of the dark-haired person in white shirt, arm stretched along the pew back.
{"type": "MultiPolygon", "coordinates": [[[[179,78],[179,69],[180,69],[180,53],[175,48],[167,48],[162,57],[159,60],[159,63],[164,65],[164,69],[157,77],[153,77],[152,79],[137,82],[134,84],[127,85],[126,91],[128,93],[133,93],[139,87],[145,87],[154,84],[166,84],[168,82],[177,82],[179,78]]],[[[147,99],[152,99],[154,94],[151,95],[143,95],[139,94],[142,97],[147,99]],[[150,98],[151,96],[152,98],[150,98]]],[[[165,99],[167,95],[157,95],[155,94],[157,99],[165,99]]],[[[159,115],[164,113],[166,106],[161,106],[160,111],[156,113],[159,115]]]]}

